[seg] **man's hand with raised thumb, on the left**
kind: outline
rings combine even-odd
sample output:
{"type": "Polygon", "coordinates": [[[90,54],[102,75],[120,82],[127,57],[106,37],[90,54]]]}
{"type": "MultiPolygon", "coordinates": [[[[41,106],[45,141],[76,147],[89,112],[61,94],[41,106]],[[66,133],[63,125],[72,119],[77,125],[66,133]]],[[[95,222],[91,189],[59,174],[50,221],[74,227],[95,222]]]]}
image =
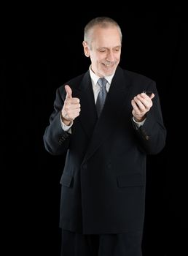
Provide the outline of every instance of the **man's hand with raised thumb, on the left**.
{"type": "Polygon", "coordinates": [[[80,112],[80,104],[79,99],[72,97],[71,87],[66,85],[66,99],[61,110],[61,120],[64,124],[70,125],[71,121],[74,121],[77,116],[79,116],[80,112]]]}

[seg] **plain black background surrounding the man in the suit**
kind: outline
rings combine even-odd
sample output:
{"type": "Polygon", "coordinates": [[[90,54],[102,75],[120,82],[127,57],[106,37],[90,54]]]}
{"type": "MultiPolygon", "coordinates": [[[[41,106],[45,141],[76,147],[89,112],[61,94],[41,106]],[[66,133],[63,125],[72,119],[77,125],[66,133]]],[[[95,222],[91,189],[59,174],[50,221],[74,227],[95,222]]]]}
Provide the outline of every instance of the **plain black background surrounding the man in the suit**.
{"type": "Polygon", "coordinates": [[[82,49],[83,30],[100,15],[114,18],[122,28],[120,66],[156,80],[168,131],[162,152],[148,157],[144,256],[186,255],[187,23],[179,8],[87,12],[82,17],[47,13],[40,22],[25,13],[24,19],[7,23],[2,49],[8,54],[0,59],[7,249],[20,255],[59,255],[64,157],[48,154],[42,136],[55,90],[89,67],[82,49]]]}

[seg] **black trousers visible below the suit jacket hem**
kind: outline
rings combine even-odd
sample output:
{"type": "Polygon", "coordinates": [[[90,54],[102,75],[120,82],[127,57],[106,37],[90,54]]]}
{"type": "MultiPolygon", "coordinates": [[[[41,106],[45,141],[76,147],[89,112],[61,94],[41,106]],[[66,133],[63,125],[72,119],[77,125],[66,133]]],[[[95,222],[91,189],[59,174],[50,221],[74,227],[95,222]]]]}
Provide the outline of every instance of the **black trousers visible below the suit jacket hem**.
{"type": "Polygon", "coordinates": [[[141,233],[82,235],[62,230],[60,256],[141,256],[141,233]]]}

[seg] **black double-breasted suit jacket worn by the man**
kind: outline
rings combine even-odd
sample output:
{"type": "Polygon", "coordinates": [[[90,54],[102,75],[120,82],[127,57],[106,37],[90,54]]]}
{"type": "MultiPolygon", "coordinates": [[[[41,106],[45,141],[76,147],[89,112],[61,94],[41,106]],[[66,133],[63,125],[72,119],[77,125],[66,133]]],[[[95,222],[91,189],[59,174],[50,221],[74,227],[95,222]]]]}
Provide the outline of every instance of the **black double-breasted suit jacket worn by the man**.
{"type": "Polygon", "coordinates": [[[66,154],[60,179],[60,227],[85,234],[141,231],[146,154],[160,152],[166,137],[155,82],[118,67],[100,118],[89,71],[66,84],[81,104],[71,135],[60,126],[64,85],[57,90],[44,132],[47,151],[66,154]],[[155,97],[144,125],[136,129],[131,99],[142,91],[153,91],[155,97]]]}

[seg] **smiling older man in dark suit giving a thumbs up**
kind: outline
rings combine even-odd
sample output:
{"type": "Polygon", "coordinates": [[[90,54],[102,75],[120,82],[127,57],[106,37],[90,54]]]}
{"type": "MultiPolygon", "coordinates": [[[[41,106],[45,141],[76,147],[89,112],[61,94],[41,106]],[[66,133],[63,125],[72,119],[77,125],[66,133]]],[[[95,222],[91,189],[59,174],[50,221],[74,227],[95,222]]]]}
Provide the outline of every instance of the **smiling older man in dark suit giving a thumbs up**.
{"type": "Polygon", "coordinates": [[[155,82],[118,66],[121,46],[111,18],[85,26],[90,68],[57,90],[44,133],[50,154],[66,154],[63,256],[141,256],[146,155],[162,150],[166,131],[155,82]]]}

